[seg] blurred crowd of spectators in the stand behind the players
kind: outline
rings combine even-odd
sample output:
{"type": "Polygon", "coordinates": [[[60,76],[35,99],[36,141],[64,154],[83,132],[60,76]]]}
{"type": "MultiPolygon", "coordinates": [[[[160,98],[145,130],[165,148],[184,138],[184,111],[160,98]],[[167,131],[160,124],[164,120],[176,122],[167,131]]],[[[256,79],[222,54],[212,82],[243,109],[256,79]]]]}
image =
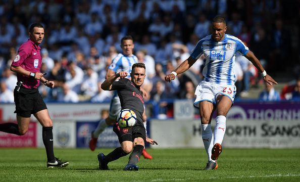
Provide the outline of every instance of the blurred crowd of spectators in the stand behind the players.
{"type": "MultiPolygon", "coordinates": [[[[209,22],[215,15],[226,17],[226,33],[247,44],[269,72],[282,70],[282,60],[292,58],[289,31],[297,27],[284,9],[286,4],[279,0],[1,1],[0,102],[14,101],[17,78],[9,67],[33,22],[45,27],[41,72],[56,82],[54,89],[40,84],[45,101],[110,101],[111,92],[100,85],[107,67],[121,53],[120,39],[128,34],[134,38],[134,54],[146,65],[144,89],[149,97],[145,100],[192,99],[202,79],[203,57],[171,83],[163,81],[164,76],[189,56],[199,39],[210,34],[209,22]]],[[[234,69],[238,94],[246,96],[258,84],[259,74],[242,55],[237,55],[234,69]]]]}

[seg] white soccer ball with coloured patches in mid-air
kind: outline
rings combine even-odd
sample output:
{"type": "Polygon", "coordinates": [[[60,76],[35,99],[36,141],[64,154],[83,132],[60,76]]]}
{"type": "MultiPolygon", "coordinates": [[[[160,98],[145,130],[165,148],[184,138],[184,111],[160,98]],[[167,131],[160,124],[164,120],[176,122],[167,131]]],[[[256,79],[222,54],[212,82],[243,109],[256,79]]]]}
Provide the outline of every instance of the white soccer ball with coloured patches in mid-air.
{"type": "Polygon", "coordinates": [[[136,114],[130,109],[123,109],[120,111],[117,122],[122,128],[130,128],[136,124],[136,114]]]}

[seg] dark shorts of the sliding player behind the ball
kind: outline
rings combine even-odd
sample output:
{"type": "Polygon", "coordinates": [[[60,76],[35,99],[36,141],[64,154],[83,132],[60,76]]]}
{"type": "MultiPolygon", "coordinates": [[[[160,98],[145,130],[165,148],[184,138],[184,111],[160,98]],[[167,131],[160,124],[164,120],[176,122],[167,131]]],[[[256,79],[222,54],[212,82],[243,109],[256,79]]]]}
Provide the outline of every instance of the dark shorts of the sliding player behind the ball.
{"type": "Polygon", "coordinates": [[[114,132],[118,135],[120,144],[124,141],[133,142],[134,139],[140,137],[146,143],[146,130],[144,126],[135,125],[129,129],[119,126],[118,122],[114,123],[114,132]]]}

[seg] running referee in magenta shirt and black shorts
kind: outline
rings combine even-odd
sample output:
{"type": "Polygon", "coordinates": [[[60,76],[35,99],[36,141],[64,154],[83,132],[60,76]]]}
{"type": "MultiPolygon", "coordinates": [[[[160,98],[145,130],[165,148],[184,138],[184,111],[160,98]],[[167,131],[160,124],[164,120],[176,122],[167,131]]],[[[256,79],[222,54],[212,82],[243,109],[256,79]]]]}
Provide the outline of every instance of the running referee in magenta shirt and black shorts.
{"type": "Polygon", "coordinates": [[[46,104],[38,93],[39,82],[53,88],[54,81],[48,81],[40,73],[42,58],[39,44],[44,38],[44,28],[34,23],[29,28],[29,39],[23,43],[11,65],[11,70],[17,73],[18,86],[14,90],[14,98],[18,124],[0,124],[0,131],[23,135],[27,132],[30,116],[33,114],[42,125],[42,139],[47,154],[47,167],[64,167],[69,162],[63,162],[54,156],[53,123],[46,104]]]}

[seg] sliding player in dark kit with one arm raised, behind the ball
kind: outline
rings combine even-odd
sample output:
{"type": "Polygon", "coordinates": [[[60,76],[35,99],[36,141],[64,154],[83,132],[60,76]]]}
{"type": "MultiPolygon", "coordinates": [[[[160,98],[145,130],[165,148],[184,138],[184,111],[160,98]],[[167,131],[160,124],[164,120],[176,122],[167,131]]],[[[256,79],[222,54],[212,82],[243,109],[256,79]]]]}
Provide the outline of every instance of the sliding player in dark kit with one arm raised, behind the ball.
{"type": "Polygon", "coordinates": [[[145,79],[145,65],[135,63],[130,73],[131,80],[127,79],[128,73],[121,71],[108,77],[101,85],[104,90],[117,90],[121,102],[121,109],[131,109],[137,117],[136,125],[129,128],[121,128],[118,122],[114,123],[114,132],[118,135],[121,147],[116,148],[108,155],[98,154],[99,169],[108,170],[108,163],[128,155],[131,151],[128,164],[124,170],[138,170],[136,165],[145,146],[145,142],[152,145],[157,144],[154,140],[146,138],[146,131],[143,125],[144,101],[140,86],[145,79]],[[119,78],[119,80],[116,80],[119,78]]]}

